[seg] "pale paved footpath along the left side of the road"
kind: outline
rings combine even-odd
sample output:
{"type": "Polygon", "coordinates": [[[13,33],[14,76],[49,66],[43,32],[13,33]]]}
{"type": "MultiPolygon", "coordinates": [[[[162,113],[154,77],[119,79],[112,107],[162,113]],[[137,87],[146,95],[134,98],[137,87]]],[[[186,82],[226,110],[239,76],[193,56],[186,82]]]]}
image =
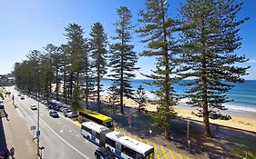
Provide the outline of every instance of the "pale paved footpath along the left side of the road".
{"type": "Polygon", "coordinates": [[[6,147],[8,150],[14,147],[15,158],[36,159],[36,143],[32,141],[32,136],[29,133],[23,115],[19,113],[18,108],[15,108],[10,96],[5,98],[4,104],[5,112],[8,114],[8,120],[5,115],[1,115],[0,156],[6,147]]]}

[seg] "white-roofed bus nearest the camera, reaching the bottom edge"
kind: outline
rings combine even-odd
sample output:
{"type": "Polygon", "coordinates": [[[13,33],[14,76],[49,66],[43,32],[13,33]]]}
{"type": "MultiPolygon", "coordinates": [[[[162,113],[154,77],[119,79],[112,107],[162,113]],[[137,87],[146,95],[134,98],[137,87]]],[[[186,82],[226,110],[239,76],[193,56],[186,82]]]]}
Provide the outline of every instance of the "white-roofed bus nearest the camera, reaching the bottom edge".
{"type": "Polygon", "coordinates": [[[154,147],[116,131],[106,134],[108,151],[120,159],[154,159],[154,147]]]}

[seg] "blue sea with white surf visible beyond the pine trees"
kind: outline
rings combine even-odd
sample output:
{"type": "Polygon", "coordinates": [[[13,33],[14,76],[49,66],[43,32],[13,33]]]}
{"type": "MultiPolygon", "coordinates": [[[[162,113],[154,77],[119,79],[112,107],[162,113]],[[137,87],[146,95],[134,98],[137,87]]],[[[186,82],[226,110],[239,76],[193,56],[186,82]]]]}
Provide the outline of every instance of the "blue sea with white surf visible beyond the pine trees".
{"type": "MultiPolygon", "coordinates": [[[[134,79],[131,81],[133,88],[136,90],[139,85],[144,87],[148,98],[154,98],[154,95],[150,91],[156,90],[156,86],[148,85],[152,80],[134,79]]],[[[102,80],[104,90],[107,90],[111,80],[102,80]]],[[[184,91],[188,89],[188,86],[174,84],[174,88],[178,94],[184,94],[184,91]]],[[[236,84],[227,96],[233,100],[233,102],[225,104],[227,108],[244,110],[250,112],[256,112],[256,80],[247,80],[244,83],[236,84]]]]}

